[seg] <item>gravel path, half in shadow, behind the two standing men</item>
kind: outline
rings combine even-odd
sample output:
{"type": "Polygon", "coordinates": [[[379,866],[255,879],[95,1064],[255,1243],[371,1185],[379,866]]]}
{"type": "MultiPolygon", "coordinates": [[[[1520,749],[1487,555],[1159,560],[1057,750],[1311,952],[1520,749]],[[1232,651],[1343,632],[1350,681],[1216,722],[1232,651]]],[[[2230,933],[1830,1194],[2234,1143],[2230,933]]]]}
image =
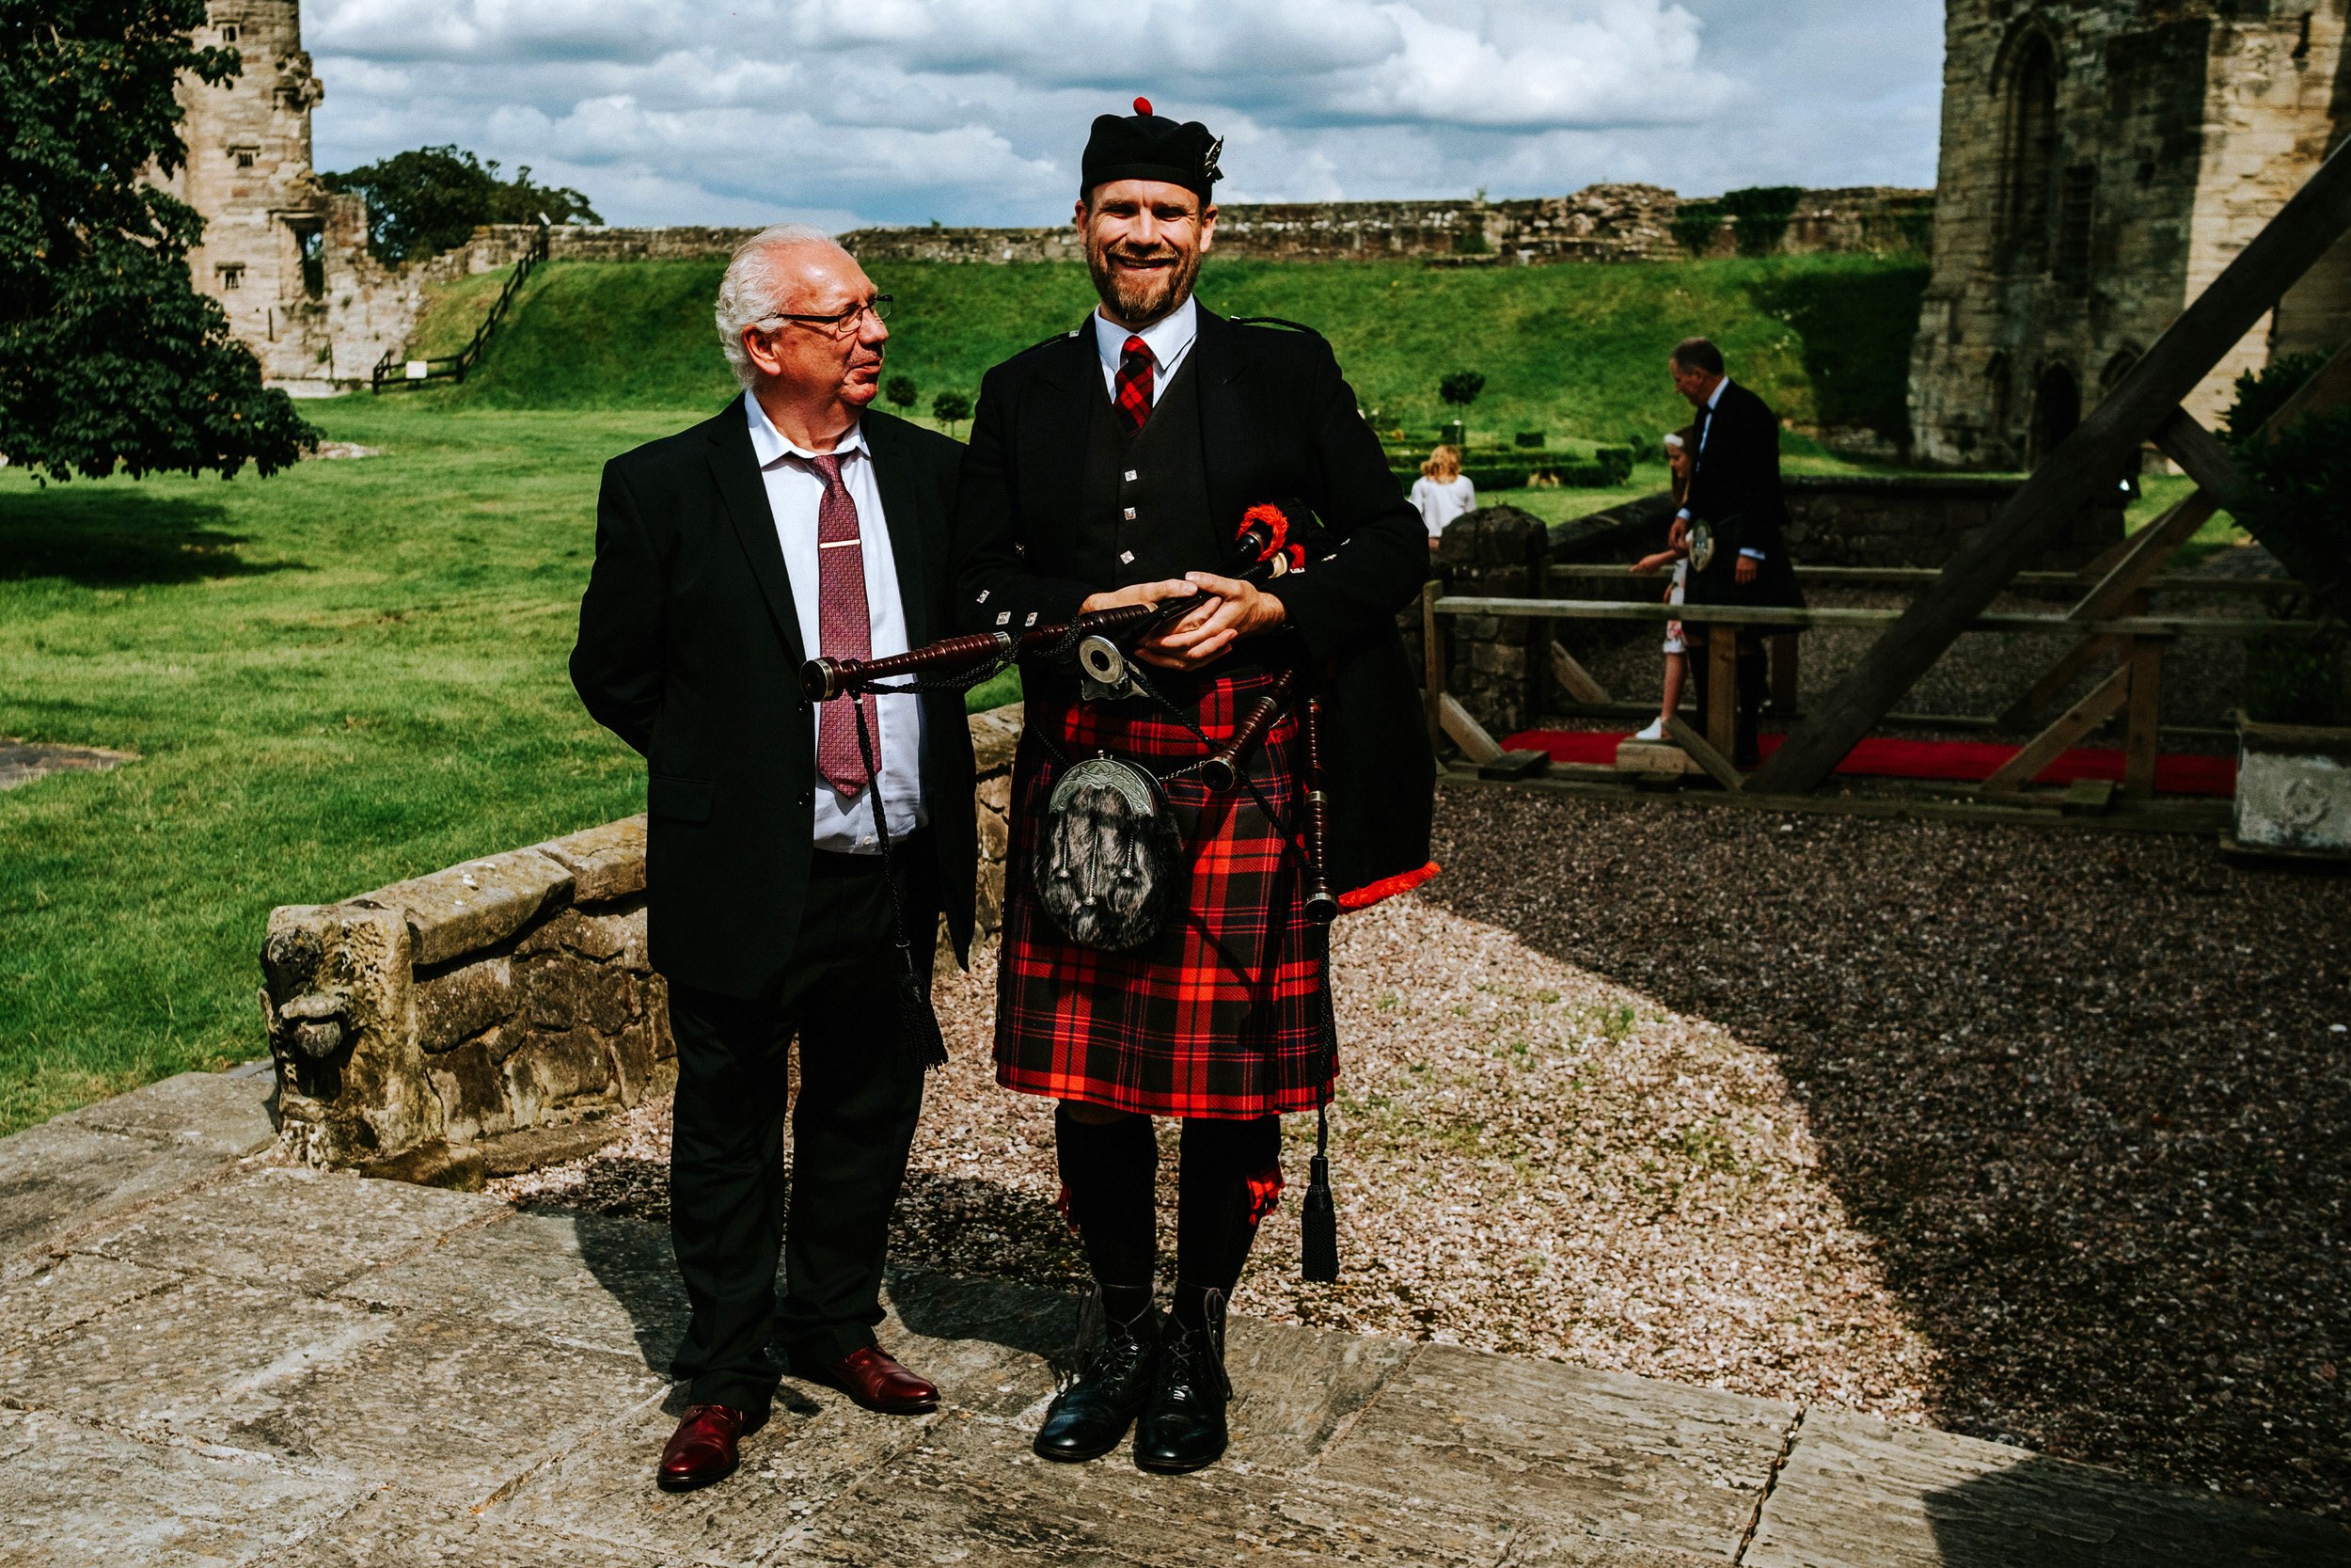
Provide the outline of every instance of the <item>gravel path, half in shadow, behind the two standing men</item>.
{"type": "MultiPolygon", "coordinates": [[[[2344,1512],[2351,884],[1500,790],[1448,790],[1439,837],[1422,896],[1338,926],[1345,1276],[1298,1281],[1293,1117],[1234,1309],[2344,1512]]],[[[990,976],[940,1011],[893,1258],[1070,1286],[990,976]]],[[[663,1119],[501,1190],[661,1218],[663,1119]]]]}

